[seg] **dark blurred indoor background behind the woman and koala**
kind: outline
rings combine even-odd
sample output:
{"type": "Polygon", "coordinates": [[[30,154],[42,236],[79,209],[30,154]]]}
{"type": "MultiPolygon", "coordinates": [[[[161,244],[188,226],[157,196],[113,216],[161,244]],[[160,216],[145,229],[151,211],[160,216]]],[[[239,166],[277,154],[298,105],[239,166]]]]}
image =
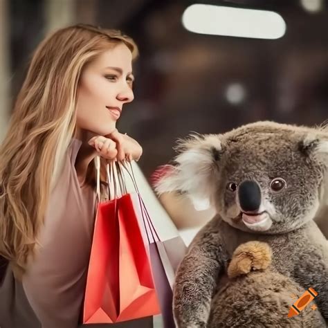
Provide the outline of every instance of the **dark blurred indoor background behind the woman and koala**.
{"type": "Polygon", "coordinates": [[[0,0],[1,138],[33,50],[49,31],[75,23],[118,28],[139,46],[135,100],[119,129],[143,145],[147,179],[190,131],[222,133],[256,120],[320,125],[328,118],[324,0],[0,0]],[[286,28],[278,39],[193,33],[182,17],[194,3],[273,10],[286,28]]]}

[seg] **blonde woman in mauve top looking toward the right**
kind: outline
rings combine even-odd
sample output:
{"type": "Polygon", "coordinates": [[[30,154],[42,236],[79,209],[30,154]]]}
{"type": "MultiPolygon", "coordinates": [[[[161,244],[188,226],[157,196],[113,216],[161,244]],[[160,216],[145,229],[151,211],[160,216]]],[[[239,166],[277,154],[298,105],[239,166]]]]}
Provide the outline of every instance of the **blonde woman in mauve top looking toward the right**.
{"type": "Polygon", "coordinates": [[[78,326],[95,214],[94,164],[138,160],[116,122],[138,49],[77,25],[37,47],[0,150],[1,328],[78,326]]]}

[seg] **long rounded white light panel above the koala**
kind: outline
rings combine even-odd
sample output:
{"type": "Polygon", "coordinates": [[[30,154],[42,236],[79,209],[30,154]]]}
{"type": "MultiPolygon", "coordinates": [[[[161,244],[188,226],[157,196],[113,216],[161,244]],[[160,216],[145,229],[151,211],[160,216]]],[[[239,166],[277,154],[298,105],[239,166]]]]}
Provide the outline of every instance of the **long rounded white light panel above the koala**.
{"type": "Polygon", "coordinates": [[[277,12],[194,4],[183,12],[183,26],[190,32],[255,39],[279,39],[286,23],[277,12]]]}

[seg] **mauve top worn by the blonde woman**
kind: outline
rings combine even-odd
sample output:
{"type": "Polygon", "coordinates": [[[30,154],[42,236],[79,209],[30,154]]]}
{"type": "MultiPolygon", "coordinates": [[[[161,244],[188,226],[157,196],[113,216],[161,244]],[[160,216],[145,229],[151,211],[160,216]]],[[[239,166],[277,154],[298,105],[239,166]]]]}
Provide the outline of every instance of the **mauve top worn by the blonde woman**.
{"type": "Polygon", "coordinates": [[[51,192],[37,257],[22,282],[10,268],[6,272],[0,288],[1,328],[78,327],[95,218],[95,190],[80,187],[74,167],[80,146],[80,140],[72,140],[51,192]]]}

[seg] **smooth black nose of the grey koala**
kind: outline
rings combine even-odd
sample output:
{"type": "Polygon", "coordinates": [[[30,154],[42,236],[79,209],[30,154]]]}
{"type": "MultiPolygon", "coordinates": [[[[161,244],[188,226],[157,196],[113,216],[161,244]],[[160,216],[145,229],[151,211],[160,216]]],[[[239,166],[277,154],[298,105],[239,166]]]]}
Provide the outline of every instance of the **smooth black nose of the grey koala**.
{"type": "Polygon", "coordinates": [[[255,181],[244,181],[238,189],[239,203],[245,212],[255,211],[261,205],[261,190],[255,181]]]}

